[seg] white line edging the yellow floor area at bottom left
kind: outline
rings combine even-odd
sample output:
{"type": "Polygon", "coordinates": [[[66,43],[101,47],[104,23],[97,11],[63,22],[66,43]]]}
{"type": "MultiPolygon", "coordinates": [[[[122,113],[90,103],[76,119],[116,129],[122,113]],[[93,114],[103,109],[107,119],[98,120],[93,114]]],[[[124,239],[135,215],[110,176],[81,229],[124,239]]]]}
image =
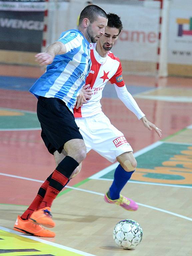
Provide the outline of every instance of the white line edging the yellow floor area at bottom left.
{"type": "Polygon", "coordinates": [[[57,248],[60,248],[60,249],[64,249],[64,250],[67,250],[67,251],[70,251],[70,252],[78,253],[79,255],[83,255],[83,256],[96,256],[94,254],[90,254],[90,253],[87,253],[87,252],[82,252],[82,251],[79,251],[79,250],[76,250],[76,249],[73,249],[73,248],[61,245],[61,244],[56,244],[56,243],[53,243],[53,242],[50,242],[50,241],[47,241],[47,240],[43,240],[43,239],[38,238],[38,237],[28,236],[28,235],[21,235],[21,233],[19,233],[17,231],[14,231],[14,230],[11,230],[9,228],[4,228],[4,227],[0,226],[0,230],[6,231],[6,232],[9,232],[9,233],[12,233],[12,234],[16,234],[16,235],[21,236],[21,237],[29,238],[31,240],[35,240],[35,241],[38,241],[38,242],[41,242],[41,243],[44,243],[44,244],[52,245],[54,247],[57,247],[57,248]]]}

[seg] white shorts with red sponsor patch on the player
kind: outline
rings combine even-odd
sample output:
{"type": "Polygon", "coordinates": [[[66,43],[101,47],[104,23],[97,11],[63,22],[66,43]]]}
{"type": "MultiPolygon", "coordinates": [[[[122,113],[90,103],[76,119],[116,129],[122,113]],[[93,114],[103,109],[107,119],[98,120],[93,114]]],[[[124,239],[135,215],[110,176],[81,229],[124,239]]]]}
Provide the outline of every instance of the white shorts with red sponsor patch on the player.
{"type": "Polygon", "coordinates": [[[115,128],[103,112],[94,116],[75,118],[83,136],[87,153],[93,149],[110,162],[119,155],[133,151],[122,132],[115,128]]]}

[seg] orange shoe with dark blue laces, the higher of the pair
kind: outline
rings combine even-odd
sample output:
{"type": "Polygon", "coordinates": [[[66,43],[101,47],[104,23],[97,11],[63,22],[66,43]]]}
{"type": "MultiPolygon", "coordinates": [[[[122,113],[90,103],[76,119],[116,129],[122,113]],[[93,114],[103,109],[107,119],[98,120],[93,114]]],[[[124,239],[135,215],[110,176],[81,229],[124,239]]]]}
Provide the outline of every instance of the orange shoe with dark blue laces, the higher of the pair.
{"type": "Polygon", "coordinates": [[[50,210],[50,207],[45,207],[34,211],[29,220],[35,224],[40,224],[47,228],[53,228],[55,227],[55,222],[52,220],[50,210]]]}

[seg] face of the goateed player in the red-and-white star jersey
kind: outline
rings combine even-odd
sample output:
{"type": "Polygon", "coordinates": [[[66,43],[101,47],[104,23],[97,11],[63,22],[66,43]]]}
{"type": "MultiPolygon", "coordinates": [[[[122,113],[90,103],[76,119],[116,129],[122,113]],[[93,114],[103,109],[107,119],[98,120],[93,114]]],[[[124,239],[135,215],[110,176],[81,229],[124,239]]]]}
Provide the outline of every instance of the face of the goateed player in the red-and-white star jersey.
{"type": "Polygon", "coordinates": [[[100,37],[99,43],[104,50],[110,51],[115,41],[117,40],[118,35],[119,35],[118,28],[106,27],[105,34],[100,37]]]}

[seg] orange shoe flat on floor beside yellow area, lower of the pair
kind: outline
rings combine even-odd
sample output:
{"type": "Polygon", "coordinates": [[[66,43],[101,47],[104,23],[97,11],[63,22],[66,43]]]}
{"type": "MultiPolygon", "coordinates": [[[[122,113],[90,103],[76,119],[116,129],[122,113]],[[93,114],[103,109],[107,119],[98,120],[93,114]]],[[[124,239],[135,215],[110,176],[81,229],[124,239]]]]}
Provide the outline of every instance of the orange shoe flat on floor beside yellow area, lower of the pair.
{"type": "Polygon", "coordinates": [[[29,220],[22,220],[21,217],[18,215],[15,225],[13,227],[14,230],[33,236],[40,236],[40,237],[54,237],[55,233],[44,229],[41,225],[34,224],[29,220]]]}

